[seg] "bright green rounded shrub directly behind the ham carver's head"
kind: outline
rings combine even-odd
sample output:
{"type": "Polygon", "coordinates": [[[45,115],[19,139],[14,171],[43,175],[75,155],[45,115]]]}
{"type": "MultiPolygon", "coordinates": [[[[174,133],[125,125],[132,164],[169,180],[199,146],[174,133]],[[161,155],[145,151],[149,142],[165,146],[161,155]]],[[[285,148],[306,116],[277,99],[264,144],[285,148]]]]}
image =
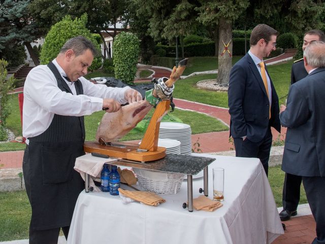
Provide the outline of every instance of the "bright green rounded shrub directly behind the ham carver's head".
{"type": "MultiPolygon", "coordinates": [[[[86,28],[87,14],[80,18],[71,19],[70,15],[62,18],[61,21],[54,24],[45,37],[44,45],[41,50],[41,64],[46,65],[52,61],[60,52],[61,47],[66,41],[73,37],[83,36],[90,40],[100,53],[100,45],[86,28]]],[[[95,57],[92,65],[88,67],[90,71],[99,69],[102,66],[102,57],[95,57]]]]}

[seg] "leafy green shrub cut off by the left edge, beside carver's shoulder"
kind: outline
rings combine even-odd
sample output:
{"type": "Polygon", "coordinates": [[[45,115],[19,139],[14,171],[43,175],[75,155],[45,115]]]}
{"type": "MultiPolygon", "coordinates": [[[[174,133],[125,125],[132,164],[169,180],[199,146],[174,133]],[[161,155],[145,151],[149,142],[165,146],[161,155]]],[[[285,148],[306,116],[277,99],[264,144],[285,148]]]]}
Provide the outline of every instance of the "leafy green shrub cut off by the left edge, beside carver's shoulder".
{"type": "Polygon", "coordinates": [[[13,88],[14,78],[7,79],[8,62],[0,59],[0,141],[7,140],[7,132],[5,131],[6,119],[10,114],[8,107],[8,91],[13,88]]]}

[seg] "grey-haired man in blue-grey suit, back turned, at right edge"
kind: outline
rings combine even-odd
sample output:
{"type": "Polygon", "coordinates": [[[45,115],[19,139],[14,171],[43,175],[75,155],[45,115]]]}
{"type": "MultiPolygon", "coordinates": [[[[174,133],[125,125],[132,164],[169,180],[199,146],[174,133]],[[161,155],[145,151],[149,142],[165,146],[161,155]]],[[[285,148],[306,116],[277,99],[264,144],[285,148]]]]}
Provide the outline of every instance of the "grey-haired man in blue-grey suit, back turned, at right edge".
{"type": "Polygon", "coordinates": [[[312,42],[304,51],[306,78],[290,86],[287,107],[280,107],[287,127],[282,170],[300,175],[316,221],[317,237],[325,243],[325,43],[312,42]]]}

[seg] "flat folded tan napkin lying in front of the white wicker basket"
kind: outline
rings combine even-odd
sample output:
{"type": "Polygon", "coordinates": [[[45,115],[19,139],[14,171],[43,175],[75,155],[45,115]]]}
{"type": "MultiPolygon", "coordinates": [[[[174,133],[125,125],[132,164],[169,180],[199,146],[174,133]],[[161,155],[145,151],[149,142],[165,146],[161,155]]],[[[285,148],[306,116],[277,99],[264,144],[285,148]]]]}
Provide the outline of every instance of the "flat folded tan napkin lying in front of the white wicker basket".
{"type": "Polygon", "coordinates": [[[166,202],[164,198],[161,198],[160,196],[152,193],[152,192],[142,192],[142,191],[128,191],[123,190],[121,188],[118,189],[119,193],[129,197],[133,200],[136,200],[138,202],[142,202],[144,204],[150,205],[150,206],[157,206],[159,203],[166,202]]]}

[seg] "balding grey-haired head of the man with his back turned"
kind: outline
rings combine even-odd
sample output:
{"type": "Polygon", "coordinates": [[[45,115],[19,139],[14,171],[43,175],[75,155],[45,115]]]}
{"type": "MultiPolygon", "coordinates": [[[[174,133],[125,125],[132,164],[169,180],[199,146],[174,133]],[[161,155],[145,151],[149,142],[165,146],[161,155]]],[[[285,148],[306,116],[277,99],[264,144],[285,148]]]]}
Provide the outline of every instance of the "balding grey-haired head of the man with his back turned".
{"type": "Polygon", "coordinates": [[[304,57],[313,68],[325,67],[325,42],[311,42],[304,51],[304,57]]]}

